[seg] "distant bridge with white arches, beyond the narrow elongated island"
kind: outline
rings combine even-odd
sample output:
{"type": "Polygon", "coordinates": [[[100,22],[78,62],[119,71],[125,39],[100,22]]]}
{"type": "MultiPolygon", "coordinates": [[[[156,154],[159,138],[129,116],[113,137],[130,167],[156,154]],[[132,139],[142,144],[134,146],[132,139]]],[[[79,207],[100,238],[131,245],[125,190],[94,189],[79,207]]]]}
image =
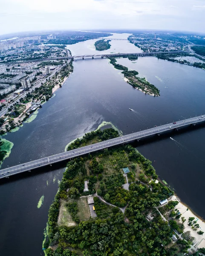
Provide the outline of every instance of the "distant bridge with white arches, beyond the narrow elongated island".
{"type": "Polygon", "coordinates": [[[172,54],[172,53],[182,53],[184,51],[174,51],[174,52],[131,52],[131,53],[108,53],[108,54],[84,54],[84,55],[74,55],[74,56],[65,56],[65,57],[54,57],[54,58],[41,58],[41,59],[35,59],[35,60],[26,60],[26,61],[10,61],[10,62],[1,62],[2,64],[14,64],[14,63],[26,63],[26,62],[38,62],[38,61],[52,61],[52,60],[68,60],[72,59],[75,60],[77,58],[85,59],[85,58],[92,58],[100,57],[100,58],[108,58],[108,57],[123,57],[126,55],[134,55],[138,57],[146,57],[146,56],[153,56],[153,55],[166,55],[166,54],[172,54]]]}

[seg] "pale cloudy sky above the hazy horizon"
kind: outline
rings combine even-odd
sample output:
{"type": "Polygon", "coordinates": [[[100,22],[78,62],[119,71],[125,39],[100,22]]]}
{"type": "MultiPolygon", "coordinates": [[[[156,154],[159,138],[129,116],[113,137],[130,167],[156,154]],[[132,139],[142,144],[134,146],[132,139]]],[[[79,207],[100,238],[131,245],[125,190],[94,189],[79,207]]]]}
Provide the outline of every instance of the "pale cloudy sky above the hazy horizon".
{"type": "Polygon", "coordinates": [[[0,0],[0,35],[52,29],[205,32],[205,0],[0,0]]]}

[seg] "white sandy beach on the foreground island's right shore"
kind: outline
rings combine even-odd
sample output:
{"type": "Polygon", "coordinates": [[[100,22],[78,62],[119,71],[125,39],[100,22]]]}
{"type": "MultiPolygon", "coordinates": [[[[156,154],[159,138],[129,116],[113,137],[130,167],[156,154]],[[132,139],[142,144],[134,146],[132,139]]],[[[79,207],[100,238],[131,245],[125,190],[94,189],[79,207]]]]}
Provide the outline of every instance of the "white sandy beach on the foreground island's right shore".
{"type": "MultiPolygon", "coordinates": [[[[176,199],[176,196],[173,196],[172,198],[173,200],[176,199]]],[[[198,247],[198,248],[202,248],[205,247],[205,222],[200,220],[198,217],[196,217],[196,215],[193,214],[193,212],[191,212],[191,210],[189,209],[187,211],[187,207],[182,204],[181,202],[179,202],[179,204],[177,204],[176,208],[179,210],[179,212],[182,214],[182,217],[185,217],[185,222],[184,222],[184,226],[185,226],[185,230],[184,232],[190,231],[190,235],[192,237],[194,237],[194,246],[198,247]],[[194,231],[191,226],[188,226],[188,219],[189,217],[194,217],[194,221],[197,221],[196,224],[199,224],[199,227],[196,231],[194,231]],[[198,235],[197,232],[201,230],[204,232],[203,235],[198,235]]],[[[182,218],[179,219],[182,222],[182,218]]]]}

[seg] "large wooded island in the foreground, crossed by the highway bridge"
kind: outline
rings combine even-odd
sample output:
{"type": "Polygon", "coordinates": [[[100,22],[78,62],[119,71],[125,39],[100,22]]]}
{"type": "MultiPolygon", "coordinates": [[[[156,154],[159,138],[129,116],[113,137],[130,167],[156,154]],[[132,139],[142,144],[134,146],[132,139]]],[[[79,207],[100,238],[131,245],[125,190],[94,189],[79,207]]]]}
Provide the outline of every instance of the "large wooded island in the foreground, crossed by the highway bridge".
{"type": "MultiPolygon", "coordinates": [[[[113,128],[92,131],[75,140],[68,150],[117,136],[113,128]]],[[[129,144],[70,160],[49,209],[45,255],[187,253],[192,240],[179,239],[176,234],[183,232],[185,221],[183,217],[179,221],[181,215],[175,209],[179,202],[172,200],[173,191],[157,178],[151,161],[129,144]],[[167,204],[161,206],[162,200],[167,204]]],[[[194,218],[189,224],[195,225],[194,218]]]]}

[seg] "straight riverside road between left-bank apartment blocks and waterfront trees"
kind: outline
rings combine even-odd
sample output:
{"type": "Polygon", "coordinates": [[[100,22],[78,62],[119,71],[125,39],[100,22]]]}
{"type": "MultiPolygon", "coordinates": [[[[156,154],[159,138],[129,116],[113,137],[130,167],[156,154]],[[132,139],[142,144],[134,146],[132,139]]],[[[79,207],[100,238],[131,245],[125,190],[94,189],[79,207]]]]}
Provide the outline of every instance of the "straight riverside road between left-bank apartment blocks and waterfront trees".
{"type": "MultiPolygon", "coordinates": [[[[64,65],[66,65],[66,64],[64,64],[64,65]]],[[[35,88],[41,86],[41,83],[44,84],[44,83],[46,82],[46,79],[49,79],[49,78],[51,78],[52,76],[54,76],[56,72],[58,72],[59,70],[61,70],[62,67],[64,67],[64,65],[63,65],[63,66],[60,66],[60,67],[56,67],[55,70],[54,70],[48,77],[45,77],[45,78],[43,78],[43,79],[40,79],[34,86],[32,86],[31,88],[29,88],[29,90],[26,91],[26,94],[27,94],[27,93],[32,93],[32,91],[35,90],[35,88]]],[[[8,108],[10,108],[12,105],[14,105],[14,103],[16,103],[16,102],[18,102],[20,99],[26,97],[26,94],[24,94],[24,93],[20,94],[20,95],[19,95],[14,101],[12,101],[9,105],[6,105],[6,107],[4,107],[4,109],[2,109],[2,110],[0,111],[0,117],[2,117],[3,115],[5,115],[5,114],[7,113],[7,111],[8,111],[8,108]]]]}

